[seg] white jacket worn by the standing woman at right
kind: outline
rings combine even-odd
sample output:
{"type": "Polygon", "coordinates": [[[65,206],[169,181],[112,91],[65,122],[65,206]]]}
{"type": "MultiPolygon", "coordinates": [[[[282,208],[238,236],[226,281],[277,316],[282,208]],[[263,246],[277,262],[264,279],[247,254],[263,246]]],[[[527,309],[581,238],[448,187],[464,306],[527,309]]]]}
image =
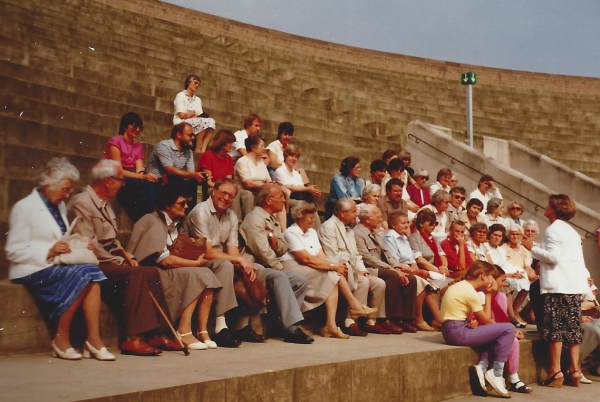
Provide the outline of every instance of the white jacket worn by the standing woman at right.
{"type": "Polygon", "coordinates": [[[540,246],[531,249],[531,256],[540,260],[541,293],[589,292],[581,237],[567,222],[555,220],[544,232],[540,246]]]}

